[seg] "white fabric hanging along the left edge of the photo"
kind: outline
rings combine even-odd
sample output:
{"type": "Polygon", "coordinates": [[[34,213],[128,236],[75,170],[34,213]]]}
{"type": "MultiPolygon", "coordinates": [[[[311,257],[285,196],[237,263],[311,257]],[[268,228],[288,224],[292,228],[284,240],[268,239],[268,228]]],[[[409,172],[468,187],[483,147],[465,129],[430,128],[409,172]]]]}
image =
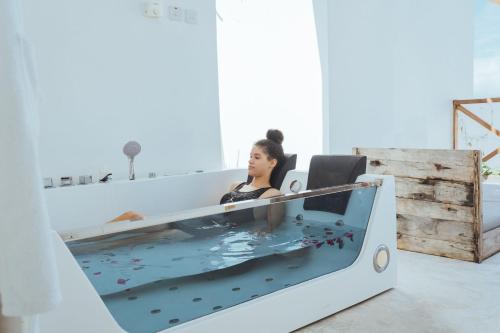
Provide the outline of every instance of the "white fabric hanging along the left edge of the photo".
{"type": "Polygon", "coordinates": [[[36,80],[18,0],[0,0],[0,303],[4,316],[49,311],[59,281],[37,153],[36,80]]]}

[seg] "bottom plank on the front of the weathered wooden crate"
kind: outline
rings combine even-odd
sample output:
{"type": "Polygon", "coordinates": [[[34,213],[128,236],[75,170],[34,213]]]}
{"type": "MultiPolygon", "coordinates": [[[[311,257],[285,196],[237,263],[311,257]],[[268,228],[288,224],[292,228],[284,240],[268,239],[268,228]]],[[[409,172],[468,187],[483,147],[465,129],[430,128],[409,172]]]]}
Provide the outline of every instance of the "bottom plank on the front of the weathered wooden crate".
{"type": "Polygon", "coordinates": [[[474,261],[474,245],[453,243],[445,240],[419,238],[398,233],[398,248],[401,250],[432,254],[435,256],[474,261]]]}

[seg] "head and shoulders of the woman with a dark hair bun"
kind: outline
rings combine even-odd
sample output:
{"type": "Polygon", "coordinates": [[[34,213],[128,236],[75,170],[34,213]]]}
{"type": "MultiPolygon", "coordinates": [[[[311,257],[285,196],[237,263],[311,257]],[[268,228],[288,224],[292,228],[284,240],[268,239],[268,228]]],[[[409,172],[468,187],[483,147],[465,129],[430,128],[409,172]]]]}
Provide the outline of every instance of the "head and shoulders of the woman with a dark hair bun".
{"type": "Polygon", "coordinates": [[[283,133],[280,130],[270,129],[267,131],[266,139],[257,141],[250,152],[248,161],[248,175],[252,176],[252,182],[237,182],[231,184],[229,192],[224,194],[220,203],[263,199],[281,195],[278,189],[271,187],[273,172],[277,172],[280,162],[283,161],[283,133]]]}

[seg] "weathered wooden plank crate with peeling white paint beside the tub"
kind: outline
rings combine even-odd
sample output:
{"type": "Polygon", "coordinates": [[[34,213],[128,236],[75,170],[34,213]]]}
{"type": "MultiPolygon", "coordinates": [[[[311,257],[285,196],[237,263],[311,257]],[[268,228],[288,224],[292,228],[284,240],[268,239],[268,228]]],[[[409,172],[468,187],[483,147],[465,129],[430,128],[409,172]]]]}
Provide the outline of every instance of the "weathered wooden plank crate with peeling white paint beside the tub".
{"type": "Polygon", "coordinates": [[[398,248],[481,262],[500,251],[500,228],[485,234],[478,150],[354,148],[367,173],[394,175],[398,248]]]}

